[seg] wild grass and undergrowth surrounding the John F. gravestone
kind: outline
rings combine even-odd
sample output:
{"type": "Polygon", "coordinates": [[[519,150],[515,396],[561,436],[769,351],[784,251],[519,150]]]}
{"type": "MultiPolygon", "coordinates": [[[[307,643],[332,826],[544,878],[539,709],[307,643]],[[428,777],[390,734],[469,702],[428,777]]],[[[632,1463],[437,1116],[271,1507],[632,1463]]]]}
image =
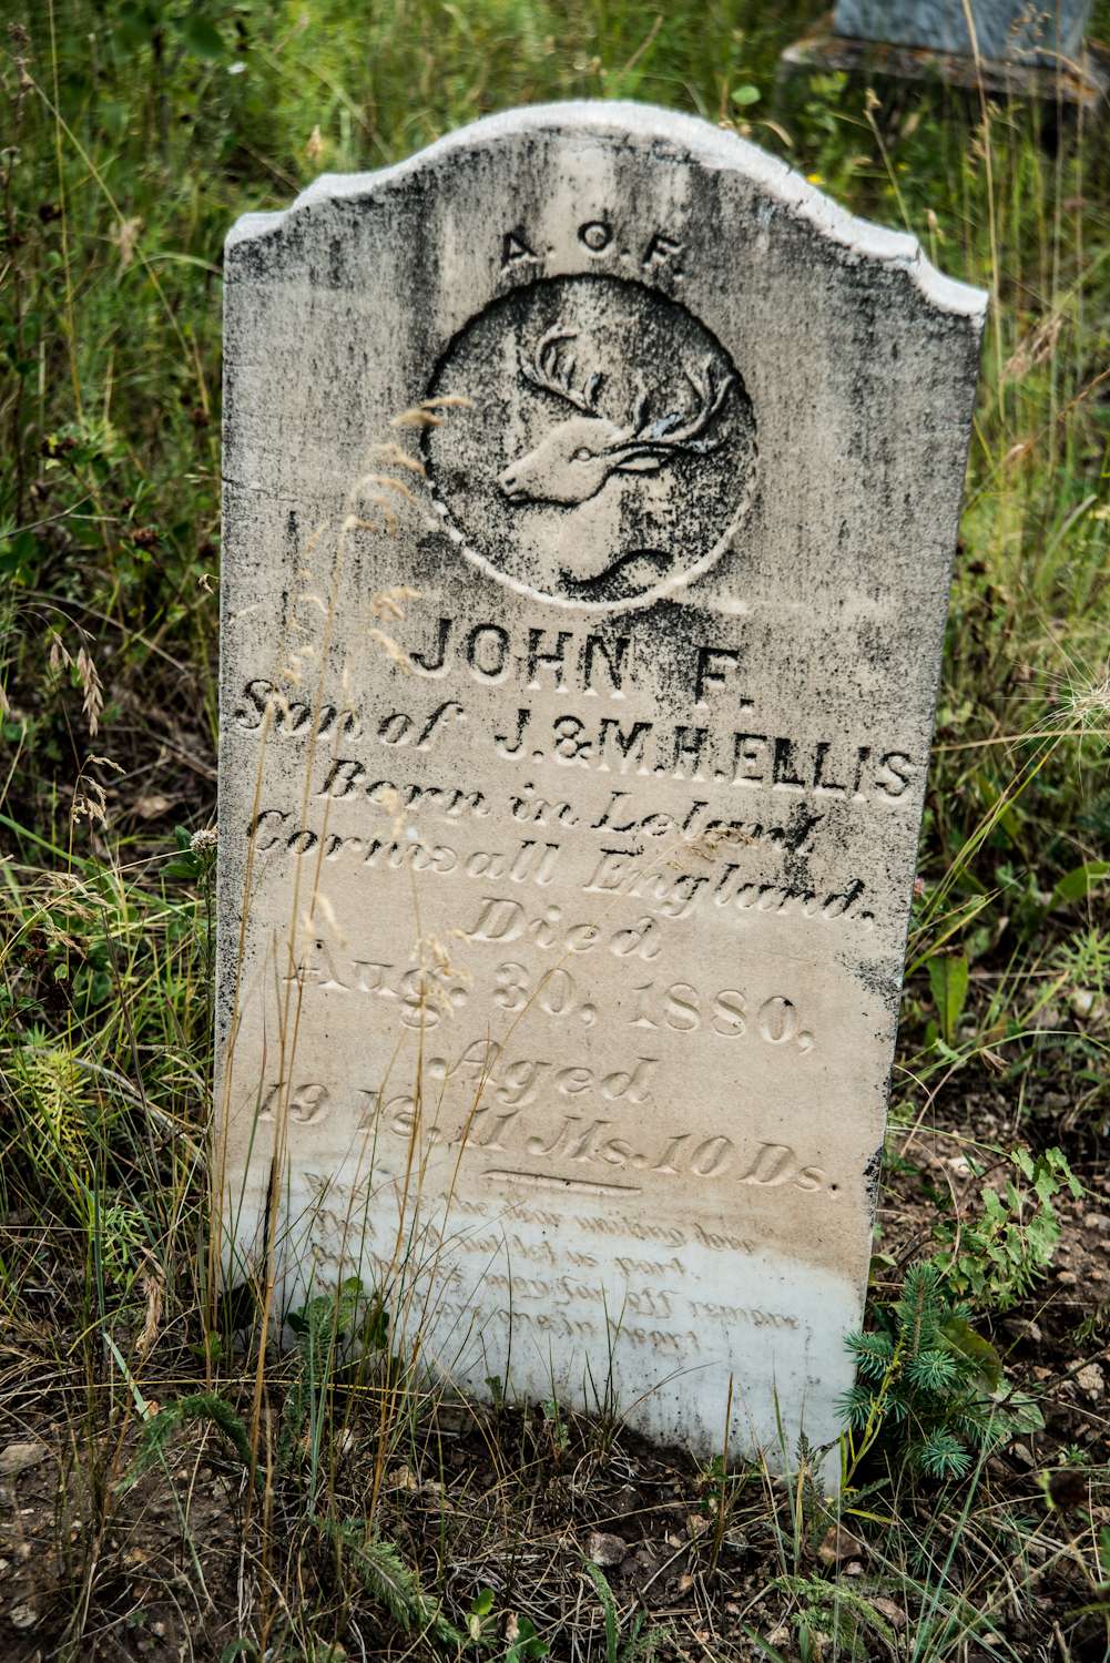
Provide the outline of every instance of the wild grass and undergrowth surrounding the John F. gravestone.
{"type": "MultiPolygon", "coordinates": [[[[1065,120],[1045,143],[1042,113],[942,86],[880,85],[874,103],[837,75],[777,83],[817,10],[35,0],[20,18],[17,0],[0,156],[0,1443],[43,1437],[53,1465],[38,1490],[18,1480],[40,1615],[0,1628],[5,1655],[131,1656],[141,1640],[315,1663],[339,1646],[955,1663],[1057,1646],[1078,1663],[1105,1646],[1105,1409],[1067,1384],[1110,1334],[1095,1284],[1082,1310],[1055,1284],[1023,1290],[1005,1319],[1038,1322],[1042,1349],[1012,1339],[997,1300],[977,1305],[1007,1380],[1040,1394],[1032,1465],[984,1450],[945,1487],[879,1437],[845,1497],[869,1543],[850,1577],[822,1557],[834,1518],[805,1475],[699,1473],[557,1405],[431,1402],[381,1334],[346,1357],[349,1309],[260,1362],[203,1285],[210,875],[173,828],[215,808],[223,236],[325,168],[381,166],[546,98],[742,125],[990,289],[875,1300],[959,1234],[934,1149],[1008,1171],[1012,1144],[1060,1146],[1097,1179],[1105,133],[1065,120]],[[151,1402],[170,1414],[153,1442],[151,1402]],[[584,1553],[617,1525],[644,1565],[599,1580],[584,1553]]],[[[974,1212],[977,1184],[960,1184],[974,1212]]]]}

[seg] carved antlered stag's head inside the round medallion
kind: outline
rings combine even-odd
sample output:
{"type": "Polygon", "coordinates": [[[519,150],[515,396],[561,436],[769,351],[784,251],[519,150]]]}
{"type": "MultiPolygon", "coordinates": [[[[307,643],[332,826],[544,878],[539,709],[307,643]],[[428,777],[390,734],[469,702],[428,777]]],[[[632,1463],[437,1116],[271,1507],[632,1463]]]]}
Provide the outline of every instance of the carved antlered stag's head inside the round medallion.
{"type": "Polygon", "coordinates": [[[651,396],[639,392],[627,424],[619,426],[597,411],[604,376],[594,373],[576,387],[574,358],[559,361],[561,344],[576,338],[577,329],[554,324],[531,359],[521,354],[524,379],[579,414],[559,422],[499,474],[498,484],[509,502],[589,502],[612,474],[657,474],[679,456],[706,456],[719,447],[721,439],[706,437],[706,429],[721,412],[736,378],[717,381],[712,359],[707,358],[697,373],[682,369],[694,392],[691,411],[652,419],[651,396]]]}

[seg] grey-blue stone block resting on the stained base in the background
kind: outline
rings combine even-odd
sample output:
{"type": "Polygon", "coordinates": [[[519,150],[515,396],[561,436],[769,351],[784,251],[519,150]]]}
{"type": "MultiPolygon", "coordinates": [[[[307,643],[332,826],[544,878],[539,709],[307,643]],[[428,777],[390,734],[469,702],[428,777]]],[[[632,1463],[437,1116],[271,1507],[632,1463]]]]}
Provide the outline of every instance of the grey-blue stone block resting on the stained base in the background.
{"type": "Polygon", "coordinates": [[[837,0],[834,28],[854,40],[927,47],[997,63],[1060,63],[1077,58],[1092,0],[837,0]],[[975,42],[967,23],[972,13],[975,42]]]}

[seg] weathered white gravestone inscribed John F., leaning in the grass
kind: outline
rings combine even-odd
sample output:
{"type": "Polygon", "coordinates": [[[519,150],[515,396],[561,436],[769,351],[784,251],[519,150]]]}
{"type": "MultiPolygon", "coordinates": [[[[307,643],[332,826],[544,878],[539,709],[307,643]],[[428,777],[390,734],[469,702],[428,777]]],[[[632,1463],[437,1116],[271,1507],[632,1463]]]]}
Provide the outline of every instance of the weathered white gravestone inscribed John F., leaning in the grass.
{"type": "Polygon", "coordinates": [[[834,1437],[984,304],[622,103],[235,226],[230,1281],[701,1453],[834,1437]]]}

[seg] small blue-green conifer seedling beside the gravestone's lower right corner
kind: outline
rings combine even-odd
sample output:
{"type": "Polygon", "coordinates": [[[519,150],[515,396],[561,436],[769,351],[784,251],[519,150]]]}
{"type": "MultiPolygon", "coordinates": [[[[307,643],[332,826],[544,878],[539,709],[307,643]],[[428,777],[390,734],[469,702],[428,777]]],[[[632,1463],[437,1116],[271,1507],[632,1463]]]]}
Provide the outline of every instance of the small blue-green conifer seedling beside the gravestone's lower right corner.
{"type": "Polygon", "coordinates": [[[902,1295],[870,1334],[850,1334],[857,1382],[840,1397],[845,1482],[882,1440],[899,1463],[960,1478],[974,1452],[1040,1424],[1028,1399],[1003,1392],[1002,1360],[969,1324],[935,1262],[910,1266],[902,1295]]]}

